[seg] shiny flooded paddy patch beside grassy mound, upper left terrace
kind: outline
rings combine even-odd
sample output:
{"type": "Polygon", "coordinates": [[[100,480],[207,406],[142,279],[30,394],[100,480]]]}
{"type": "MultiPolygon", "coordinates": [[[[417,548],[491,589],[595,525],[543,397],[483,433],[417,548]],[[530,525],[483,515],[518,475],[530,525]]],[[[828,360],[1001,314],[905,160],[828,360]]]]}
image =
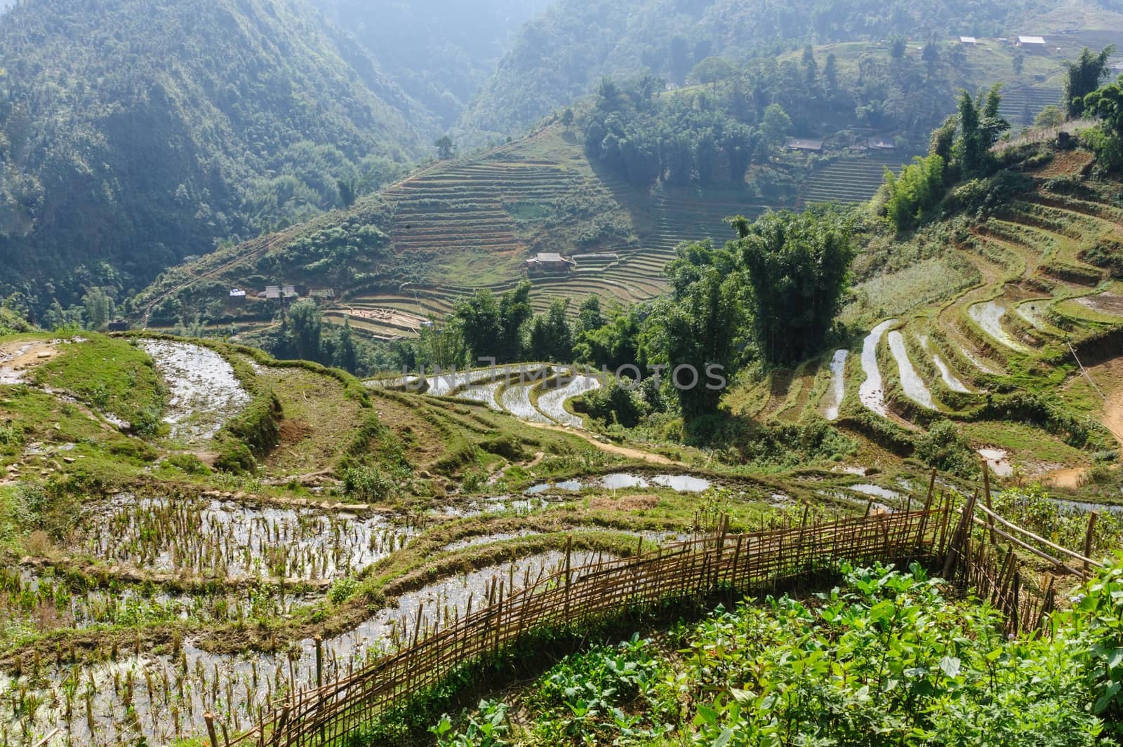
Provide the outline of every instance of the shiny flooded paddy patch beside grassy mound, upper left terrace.
{"type": "Polygon", "coordinates": [[[164,422],[172,426],[173,441],[210,441],[230,416],[249,404],[234,368],[210,348],[166,340],[145,340],[140,345],[156,361],[156,370],[171,389],[164,422]]]}

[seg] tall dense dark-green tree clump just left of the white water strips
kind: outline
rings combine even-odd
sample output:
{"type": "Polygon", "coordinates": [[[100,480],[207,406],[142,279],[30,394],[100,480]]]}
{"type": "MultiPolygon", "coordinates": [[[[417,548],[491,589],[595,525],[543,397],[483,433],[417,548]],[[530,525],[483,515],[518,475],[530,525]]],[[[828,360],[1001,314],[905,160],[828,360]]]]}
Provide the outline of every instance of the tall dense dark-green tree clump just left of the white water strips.
{"type": "Polygon", "coordinates": [[[820,348],[838,314],[853,259],[851,228],[832,210],[772,213],[755,223],[738,218],[733,227],[754,340],[769,362],[796,363],[820,348]]]}

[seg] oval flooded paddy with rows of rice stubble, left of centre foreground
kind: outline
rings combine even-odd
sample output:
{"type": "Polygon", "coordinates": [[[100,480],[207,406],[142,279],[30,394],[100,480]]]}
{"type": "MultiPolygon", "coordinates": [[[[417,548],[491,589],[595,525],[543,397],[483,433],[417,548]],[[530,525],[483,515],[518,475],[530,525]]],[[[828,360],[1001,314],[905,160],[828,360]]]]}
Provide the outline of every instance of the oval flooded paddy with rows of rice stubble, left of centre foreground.
{"type": "Polygon", "coordinates": [[[118,496],[86,511],[80,550],[154,571],[301,580],[346,575],[413,535],[382,516],[118,496]]]}

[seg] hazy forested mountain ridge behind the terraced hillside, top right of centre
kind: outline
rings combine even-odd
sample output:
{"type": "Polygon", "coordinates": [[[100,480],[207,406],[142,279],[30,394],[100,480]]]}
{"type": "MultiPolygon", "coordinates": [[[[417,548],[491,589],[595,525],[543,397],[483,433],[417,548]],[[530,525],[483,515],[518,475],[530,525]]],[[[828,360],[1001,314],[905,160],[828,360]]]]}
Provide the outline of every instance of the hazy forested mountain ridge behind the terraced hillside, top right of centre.
{"type": "Polygon", "coordinates": [[[1039,0],[560,0],[527,24],[465,116],[466,130],[506,133],[588,93],[602,75],[646,73],[682,84],[709,57],[743,61],[805,43],[956,34],[999,36],[1039,0]]]}

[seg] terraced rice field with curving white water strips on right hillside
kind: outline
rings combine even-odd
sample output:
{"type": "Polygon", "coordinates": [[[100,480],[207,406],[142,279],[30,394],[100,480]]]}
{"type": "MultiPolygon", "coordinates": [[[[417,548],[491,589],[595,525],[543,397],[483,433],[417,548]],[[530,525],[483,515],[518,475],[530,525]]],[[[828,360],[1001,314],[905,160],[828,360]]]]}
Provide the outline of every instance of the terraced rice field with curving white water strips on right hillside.
{"type": "MultiPolygon", "coordinates": [[[[1057,154],[1056,163],[1037,176],[1033,192],[974,224],[942,258],[923,260],[974,268],[977,273],[961,273],[974,285],[949,284],[934,295],[924,286],[909,305],[909,294],[892,283],[865,283],[861,308],[892,307],[896,313],[885,319],[889,312],[882,311],[880,320],[867,322],[871,329],[866,328],[870,331],[860,351],[836,351],[830,377],[818,379],[818,398],[795,416],[818,412],[837,419],[852,399],[849,406],[906,426],[913,425],[909,408],[897,406],[906,402],[953,419],[977,412],[989,400],[988,393],[1004,386],[1016,390],[1022,384],[1015,377],[1028,370],[1032,376],[1053,371],[1058,360],[1075,369],[1069,342],[1078,345],[1123,320],[1123,284],[1085,261],[1084,253],[1090,246],[1123,240],[1123,208],[1113,203],[1110,188],[1093,182],[1062,193],[1050,181],[1085,164],[1086,154],[1057,154]],[[860,352],[861,381],[848,387],[850,352],[860,352]]],[[[805,378],[774,376],[770,405],[802,397],[805,378]]],[[[784,416],[770,405],[755,411],[756,416],[784,416]]]]}

